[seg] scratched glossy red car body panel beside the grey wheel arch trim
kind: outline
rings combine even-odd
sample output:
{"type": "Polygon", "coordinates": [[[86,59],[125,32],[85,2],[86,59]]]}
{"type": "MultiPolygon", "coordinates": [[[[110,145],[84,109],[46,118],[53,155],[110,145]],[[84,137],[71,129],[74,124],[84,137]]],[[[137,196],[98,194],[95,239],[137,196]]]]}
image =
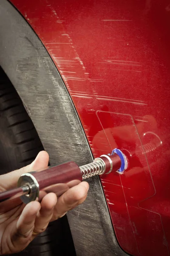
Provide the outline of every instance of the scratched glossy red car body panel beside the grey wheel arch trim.
{"type": "Polygon", "coordinates": [[[11,2],[53,58],[94,157],[115,147],[129,156],[125,174],[101,179],[120,246],[168,256],[170,2],[11,2]]]}

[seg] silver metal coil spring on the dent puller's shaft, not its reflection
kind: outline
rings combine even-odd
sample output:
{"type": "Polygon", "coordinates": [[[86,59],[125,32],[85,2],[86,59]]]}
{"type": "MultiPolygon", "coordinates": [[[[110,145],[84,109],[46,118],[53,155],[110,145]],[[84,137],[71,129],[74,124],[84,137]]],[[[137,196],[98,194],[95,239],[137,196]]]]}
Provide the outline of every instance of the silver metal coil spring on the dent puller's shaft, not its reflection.
{"type": "Polygon", "coordinates": [[[84,166],[80,166],[79,168],[82,173],[82,180],[85,180],[89,177],[103,173],[105,171],[105,164],[102,160],[97,160],[96,162],[88,163],[84,166]]]}

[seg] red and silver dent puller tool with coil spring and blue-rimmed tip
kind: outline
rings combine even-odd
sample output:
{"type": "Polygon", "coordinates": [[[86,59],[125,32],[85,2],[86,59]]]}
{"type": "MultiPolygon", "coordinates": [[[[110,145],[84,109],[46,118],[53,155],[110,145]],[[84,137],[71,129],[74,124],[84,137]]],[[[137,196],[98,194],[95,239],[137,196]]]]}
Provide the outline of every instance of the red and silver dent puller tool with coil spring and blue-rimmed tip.
{"type": "Polygon", "coordinates": [[[125,154],[115,148],[111,154],[101,155],[95,158],[92,163],[84,166],[79,167],[76,163],[70,161],[40,172],[24,173],[18,180],[17,188],[0,193],[0,203],[20,197],[25,204],[28,204],[31,201],[38,200],[42,191],[62,195],[82,180],[111,172],[122,174],[126,169],[127,158],[125,154]]]}

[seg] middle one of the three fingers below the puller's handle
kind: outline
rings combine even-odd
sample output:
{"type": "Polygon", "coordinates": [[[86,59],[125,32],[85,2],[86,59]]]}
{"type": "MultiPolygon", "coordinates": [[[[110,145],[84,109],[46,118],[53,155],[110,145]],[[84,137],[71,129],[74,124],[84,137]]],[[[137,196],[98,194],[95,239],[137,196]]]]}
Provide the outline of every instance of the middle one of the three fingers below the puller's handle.
{"type": "Polygon", "coordinates": [[[42,233],[48,226],[49,221],[52,218],[54,207],[57,203],[57,195],[49,193],[42,198],[41,209],[35,220],[35,233],[42,233]]]}

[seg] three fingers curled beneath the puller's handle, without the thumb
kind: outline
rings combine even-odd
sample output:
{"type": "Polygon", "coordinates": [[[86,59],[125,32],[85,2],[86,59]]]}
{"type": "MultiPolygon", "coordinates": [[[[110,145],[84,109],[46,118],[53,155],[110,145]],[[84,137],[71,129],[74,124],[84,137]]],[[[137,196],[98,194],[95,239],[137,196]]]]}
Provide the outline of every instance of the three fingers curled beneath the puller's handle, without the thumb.
{"type": "MultiPolygon", "coordinates": [[[[11,236],[8,237],[9,247],[12,251],[23,250],[36,235],[42,233],[48,226],[49,221],[53,221],[65,214],[68,210],[81,204],[89,189],[87,182],[82,182],[72,187],[57,201],[55,193],[48,193],[42,198],[41,204],[33,201],[25,206],[18,221],[10,228],[11,236]]],[[[8,232],[6,234],[8,236],[8,232]]]]}

